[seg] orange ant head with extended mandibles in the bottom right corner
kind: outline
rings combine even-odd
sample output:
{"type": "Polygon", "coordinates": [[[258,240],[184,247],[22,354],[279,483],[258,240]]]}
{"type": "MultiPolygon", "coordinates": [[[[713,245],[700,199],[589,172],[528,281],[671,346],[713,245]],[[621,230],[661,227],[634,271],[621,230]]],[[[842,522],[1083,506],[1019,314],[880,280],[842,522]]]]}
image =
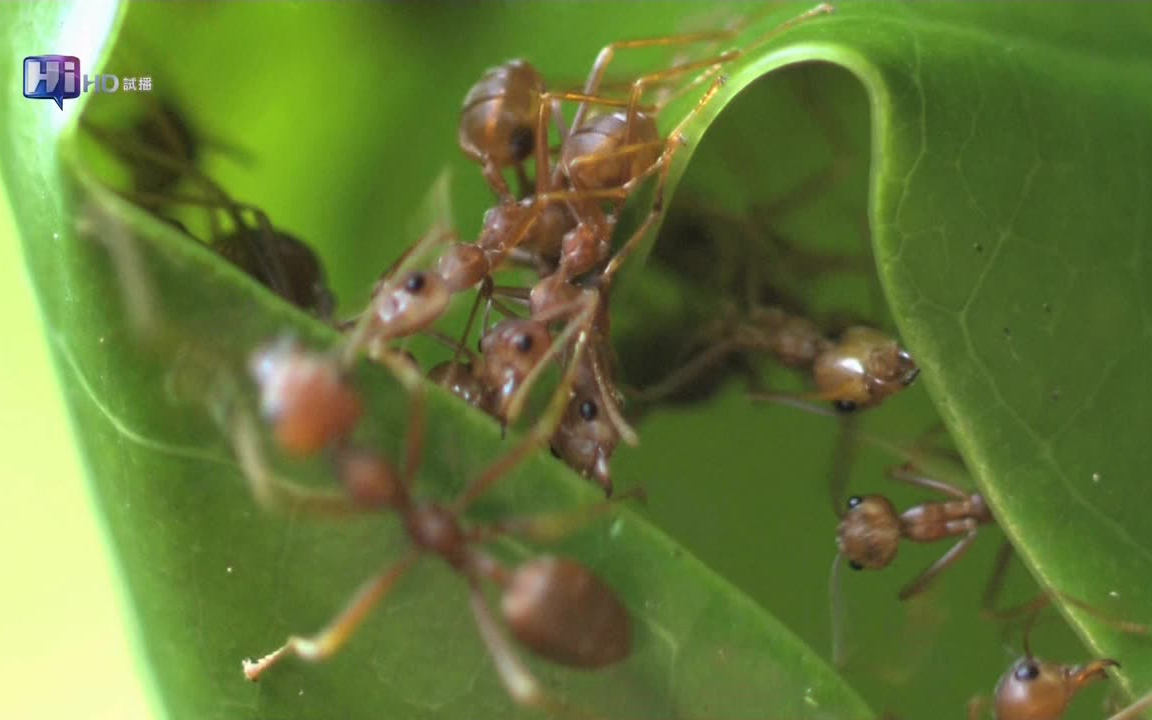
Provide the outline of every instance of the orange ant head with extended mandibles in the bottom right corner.
{"type": "Polygon", "coordinates": [[[1046,662],[1030,654],[1013,664],[995,690],[998,720],[1059,720],[1073,697],[1087,683],[1106,677],[1115,660],[1084,666],[1046,662]]]}

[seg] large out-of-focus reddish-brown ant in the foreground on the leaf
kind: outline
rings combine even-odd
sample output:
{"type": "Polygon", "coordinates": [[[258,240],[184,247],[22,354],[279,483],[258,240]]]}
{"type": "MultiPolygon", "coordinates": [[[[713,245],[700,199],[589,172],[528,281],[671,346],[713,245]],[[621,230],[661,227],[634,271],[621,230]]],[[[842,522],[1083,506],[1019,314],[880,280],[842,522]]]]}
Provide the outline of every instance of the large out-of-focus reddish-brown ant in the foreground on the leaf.
{"type": "MultiPolygon", "coordinates": [[[[294,356],[301,362],[301,354],[294,356]]],[[[294,387],[312,387],[314,381],[288,381],[276,364],[280,355],[263,353],[253,364],[258,373],[265,406],[279,412],[274,422],[283,422],[285,414],[298,417],[324,416],[321,408],[310,407],[316,397],[332,393],[309,392],[291,396],[294,387]],[[271,369],[268,366],[271,365],[271,369]],[[286,410],[288,408],[288,410],[286,410]],[[309,412],[308,410],[312,410],[309,412]]],[[[329,363],[328,367],[334,364],[329,363]]],[[[291,376],[291,373],[289,373],[291,376]]],[[[294,376],[293,376],[294,377],[294,376]]],[[[320,384],[324,385],[324,384],[320,384]]],[[[325,387],[327,387],[325,385],[325,387]]],[[[336,395],[353,392],[341,385],[336,395]]],[[[569,388],[562,387],[566,396],[569,388]]],[[[482,544],[492,537],[517,535],[528,539],[554,539],[573,526],[601,514],[607,503],[588,508],[578,517],[546,515],[518,517],[491,525],[470,525],[462,513],[486,493],[508,471],[532,454],[555,427],[559,402],[553,401],[547,417],[551,425],[533,429],[533,434],[508,454],[480,472],[450,503],[422,501],[411,495],[423,453],[424,412],[422,395],[415,395],[408,427],[406,461],[396,468],[379,453],[351,444],[334,448],[335,467],[344,486],[339,495],[321,494],[281,479],[268,469],[259,441],[255,419],[243,410],[234,409],[228,418],[236,454],[252,485],[253,494],[273,507],[303,507],[323,509],[327,514],[393,511],[404,528],[411,547],[399,562],[371,578],[356,593],[351,604],[314,637],[293,636],[281,647],[257,660],[244,660],[244,675],[259,679],[268,668],[288,655],[318,661],[335,653],[376,606],[419,559],[434,555],[444,560],[468,584],[472,613],[482,639],[492,655],[501,681],[513,699],[523,705],[543,706],[563,711],[563,706],[548,697],[536,679],[516,658],[482,591],[482,583],[491,582],[500,589],[500,612],[511,635],[535,654],[574,668],[594,669],[626,659],[631,652],[631,620],[627,607],[615,592],[591,569],[575,560],[553,555],[538,555],[513,567],[506,566],[486,552],[482,544]],[[280,500],[283,498],[283,500],[280,500]]],[[[347,416],[351,417],[351,416],[347,416]]],[[[319,423],[328,426],[327,423],[319,423]]],[[[278,432],[279,434],[279,432],[278,432]]],[[[347,432],[313,432],[314,437],[347,432]]]]}

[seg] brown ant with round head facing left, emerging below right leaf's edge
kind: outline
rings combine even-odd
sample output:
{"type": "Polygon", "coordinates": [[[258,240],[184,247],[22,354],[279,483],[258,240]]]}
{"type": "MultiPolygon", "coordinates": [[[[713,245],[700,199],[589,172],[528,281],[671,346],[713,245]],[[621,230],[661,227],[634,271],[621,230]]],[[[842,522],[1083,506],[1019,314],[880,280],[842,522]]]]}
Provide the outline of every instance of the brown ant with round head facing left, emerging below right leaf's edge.
{"type": "Polygon", "coordinates": [[[948,500],[924,502],[897,514],[884,495],[854,495],[836,529],[836,546],[849,567],[856,570],[878,570],[896,556],[901,540],[935,543],[960,538],[937,562],[900,591],[907,600],[925,588],[946,568],[968,551],[982,525],[995,521],[984,497],[968,493],[948,483],[916,473],[910,465],[890,472],[905,483],[946,495],[948,500]]]}

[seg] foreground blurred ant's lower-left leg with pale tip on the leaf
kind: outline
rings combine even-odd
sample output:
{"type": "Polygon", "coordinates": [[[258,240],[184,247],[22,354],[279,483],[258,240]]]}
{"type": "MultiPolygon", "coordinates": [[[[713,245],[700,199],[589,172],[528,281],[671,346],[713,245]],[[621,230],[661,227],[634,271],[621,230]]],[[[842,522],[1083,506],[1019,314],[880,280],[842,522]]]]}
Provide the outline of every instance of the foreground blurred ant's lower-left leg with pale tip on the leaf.
{"type": "Polygon", "coordinates": [[[287,655],[296,655],[302,660],[316,662],[335,654],[348,642],[356,628],[364,622],[369,612],[384,596],[388,594],[396,581],[416,562],[418,556],[418,552],[410,550],[392,568],[366,582],[353,596],[348,606],[319,634],[312,637],[294,635],[288,638],[287,643],[263,658],[243,660],[241,665],[244,668],[244,676],[255,682],[260,679],[265,670],[287,655]]]}

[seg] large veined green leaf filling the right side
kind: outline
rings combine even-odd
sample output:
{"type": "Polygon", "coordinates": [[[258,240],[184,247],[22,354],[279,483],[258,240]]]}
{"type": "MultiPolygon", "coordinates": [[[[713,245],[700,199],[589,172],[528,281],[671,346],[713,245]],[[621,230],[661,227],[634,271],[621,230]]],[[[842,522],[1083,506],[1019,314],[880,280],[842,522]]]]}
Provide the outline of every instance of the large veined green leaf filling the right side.
{"type": "MultiPolygon", "coordinates": [[[[1041,584],[1146,622],[1152,9],[851,9],[828,58],[870,89],[878,264],[929,392],[1041,584]]],[[[1146,639],[1064,612],[1152,684],[1146,639]]]]}

